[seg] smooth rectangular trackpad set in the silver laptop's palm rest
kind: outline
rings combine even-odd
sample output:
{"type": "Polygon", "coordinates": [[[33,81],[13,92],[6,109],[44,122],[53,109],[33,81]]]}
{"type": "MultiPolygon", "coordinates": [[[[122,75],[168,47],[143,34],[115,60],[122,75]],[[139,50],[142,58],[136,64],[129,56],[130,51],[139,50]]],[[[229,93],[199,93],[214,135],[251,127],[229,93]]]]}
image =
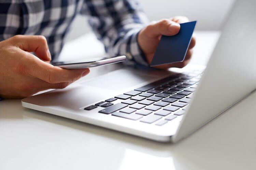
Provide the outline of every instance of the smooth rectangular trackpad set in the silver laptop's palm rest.
{"type": "Polygon", "coordinates": [[[143,74],[143,72],[121,69],[104,74],[95,79],[82,82],[81,84],[86,86],[120,91],[139,85],[146,81],[151,81],[156,78],[157,76],[154,74],[143,74]]]}

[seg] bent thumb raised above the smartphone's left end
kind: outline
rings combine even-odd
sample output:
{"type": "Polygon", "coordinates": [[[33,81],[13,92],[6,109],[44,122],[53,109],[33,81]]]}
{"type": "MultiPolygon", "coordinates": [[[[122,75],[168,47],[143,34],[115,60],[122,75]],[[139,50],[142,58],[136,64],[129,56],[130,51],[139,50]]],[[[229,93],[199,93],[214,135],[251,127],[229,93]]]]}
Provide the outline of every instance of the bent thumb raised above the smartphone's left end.
{"type": "Polygon", "coordinates": [[[16,35],[12,38],[14,45],[27,52],[34,52],[41,60],[51,61],[47,40],[41,35],[16,35]]]}

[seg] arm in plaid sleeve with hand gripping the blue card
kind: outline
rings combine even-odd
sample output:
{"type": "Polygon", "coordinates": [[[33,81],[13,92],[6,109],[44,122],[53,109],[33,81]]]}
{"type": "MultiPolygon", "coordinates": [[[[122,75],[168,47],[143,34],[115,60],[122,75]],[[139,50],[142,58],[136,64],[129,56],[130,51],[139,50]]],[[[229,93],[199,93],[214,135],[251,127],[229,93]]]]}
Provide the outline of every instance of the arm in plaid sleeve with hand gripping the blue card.
{"type": "MultiPolygon", "coordinates": [[[[180,30],[180,22],[185,17],[163,19],[148,24],[145,13],[136,0],[85,0],[82,14],[89,15],[89,24],[110,55],[126,55],[126,65],[148,66],[151,62],[161,35],[175,35],[180,30]]],[[[192,38],[189,49],[195,45],[192,38]]],[[[185,60],[180,63],[157,66],[184,67],[190,60],[188,50],[185,60]]]]}

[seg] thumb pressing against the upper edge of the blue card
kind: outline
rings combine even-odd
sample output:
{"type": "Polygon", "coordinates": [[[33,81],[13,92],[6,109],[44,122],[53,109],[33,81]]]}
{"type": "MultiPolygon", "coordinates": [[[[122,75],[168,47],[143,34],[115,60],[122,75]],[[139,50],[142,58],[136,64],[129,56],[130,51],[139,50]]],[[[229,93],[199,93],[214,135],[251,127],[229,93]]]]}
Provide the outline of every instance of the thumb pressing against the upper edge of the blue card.
{"type": "Polygon", "coordinates": [[[180,31],[180,24],[169,19],[163,19],[150,24],[146,30],[146,35],[158,37],[159,35],[172,36],[180,31]]]}

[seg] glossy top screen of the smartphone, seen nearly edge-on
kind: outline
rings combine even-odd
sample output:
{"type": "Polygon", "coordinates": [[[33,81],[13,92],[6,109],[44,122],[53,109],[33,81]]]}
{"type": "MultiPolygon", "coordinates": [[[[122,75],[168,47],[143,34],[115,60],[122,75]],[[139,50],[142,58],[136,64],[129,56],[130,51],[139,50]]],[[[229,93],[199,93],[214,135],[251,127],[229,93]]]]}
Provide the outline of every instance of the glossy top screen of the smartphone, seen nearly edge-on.
{"type": "Polygon", "coordinates": [[[54,66],[59,66],[59,65],[67,65],[67,64],[92,63],[92,62],[97,62],[100,60],[106,60],[106,59],[115,58],[115,57],[118,57],[118,56],[84,58],[83,60],[53,61],[53,62],[51,62],[51,64],[54,66]]]}

